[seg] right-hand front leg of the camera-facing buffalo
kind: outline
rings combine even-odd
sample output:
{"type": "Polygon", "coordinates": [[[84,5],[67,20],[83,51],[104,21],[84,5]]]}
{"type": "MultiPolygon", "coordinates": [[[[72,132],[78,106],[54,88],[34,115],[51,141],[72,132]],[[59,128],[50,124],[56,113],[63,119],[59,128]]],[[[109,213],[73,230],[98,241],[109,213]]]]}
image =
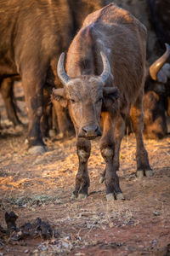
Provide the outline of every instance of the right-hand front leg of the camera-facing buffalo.
{"type": "Polygon", "coordinates": [[[105,160],[105,187],[106,199],[108,201],[124,199],[119,185],[119,177],[116,174],[116,167],[113,164],[115,155],[114,143],[114,121],[110,113],[102,113],[104,122],[103,135],[100,140],[100,151],[105,160]]]}

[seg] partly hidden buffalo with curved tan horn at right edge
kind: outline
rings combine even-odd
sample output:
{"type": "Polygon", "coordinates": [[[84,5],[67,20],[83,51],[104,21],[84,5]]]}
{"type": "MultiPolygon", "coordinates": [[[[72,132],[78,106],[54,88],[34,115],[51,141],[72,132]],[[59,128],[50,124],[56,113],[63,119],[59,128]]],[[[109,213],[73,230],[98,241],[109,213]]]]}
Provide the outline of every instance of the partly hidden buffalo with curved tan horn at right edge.
{"type": "Polygon", "coordinates": [[[168,97],[170,65],[166,63],[170,55],[170,46],[149,68],[144,86],[144,136],[160,139],[167,135],[168,97]],[[166,63],[166,64],[165,64],[166,63]]]}

